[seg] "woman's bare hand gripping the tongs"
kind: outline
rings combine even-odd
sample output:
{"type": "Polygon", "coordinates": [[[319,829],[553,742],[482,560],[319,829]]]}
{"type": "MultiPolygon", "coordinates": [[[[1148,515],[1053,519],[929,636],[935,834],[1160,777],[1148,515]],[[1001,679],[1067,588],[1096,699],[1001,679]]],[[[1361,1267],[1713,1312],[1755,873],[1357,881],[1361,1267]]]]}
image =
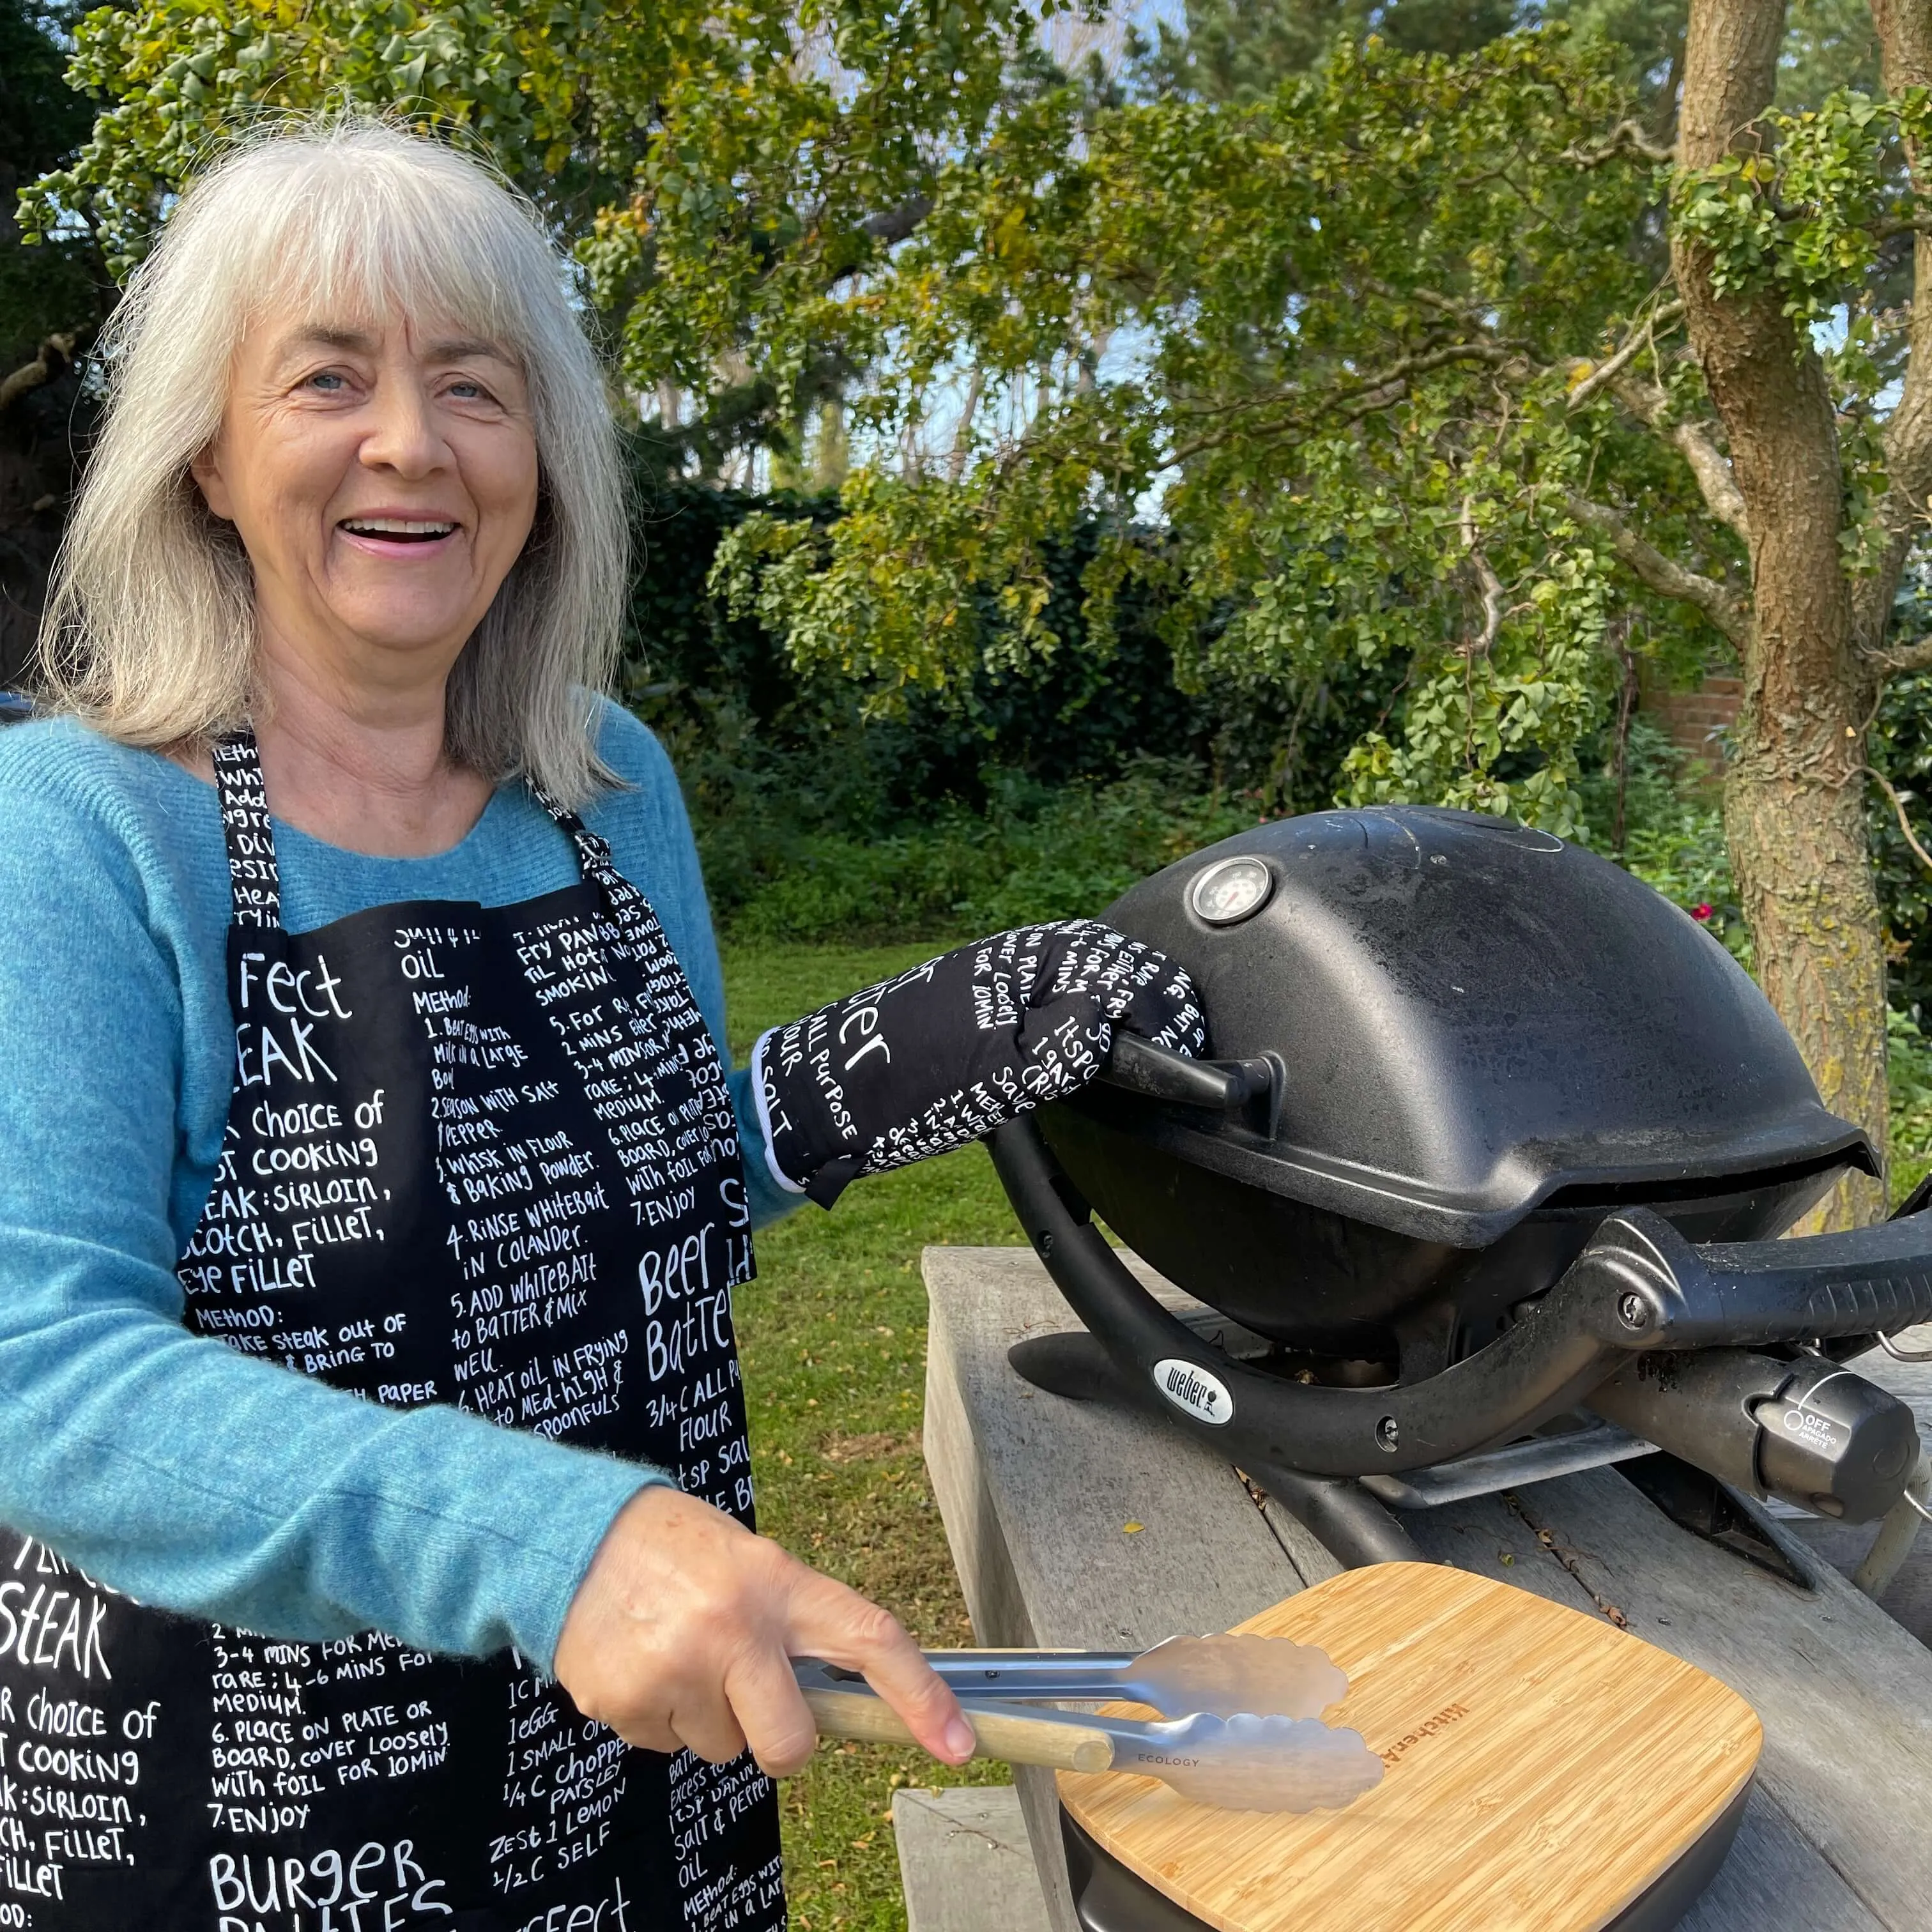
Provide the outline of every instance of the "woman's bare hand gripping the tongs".
{"type": "Polygon", "coordinates": [[[773,1777],[817,1745],[792,1658],[864,1671],[947,1764],[972,1725],[898,1619],[682,1490],[639,1490],[597,1549],[556,1640],[585,1718],[645,1750],[724,1764],[748,1745],[773,1777]]]}

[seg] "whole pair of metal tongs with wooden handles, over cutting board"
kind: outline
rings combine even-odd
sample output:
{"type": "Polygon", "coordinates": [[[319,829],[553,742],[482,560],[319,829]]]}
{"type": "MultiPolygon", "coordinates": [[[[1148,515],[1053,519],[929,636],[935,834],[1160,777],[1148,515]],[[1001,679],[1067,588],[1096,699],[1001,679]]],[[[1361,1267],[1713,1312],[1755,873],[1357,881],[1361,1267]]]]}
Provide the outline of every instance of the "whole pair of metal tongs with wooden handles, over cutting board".
{"type": "MultiPolygon", "coordinates": [[[[1159,1777],[1196,1804],[1256,1812],[1337,1810],[1381,1781],[1360,1731],[1320,1721],[1349,1679],[1325,1652],[1283,1636],[1171,1636],[1146,1652],[929,1650],[925,1662],[960,1700],[981,1758],[1159,1777]],[[1167,1721],[1026,1698],[1130,1700],[1167,1721]]],[[[817,1658],[792,1669],[827,1737],[910,1743],[858,1671],[817,1658]]]]}

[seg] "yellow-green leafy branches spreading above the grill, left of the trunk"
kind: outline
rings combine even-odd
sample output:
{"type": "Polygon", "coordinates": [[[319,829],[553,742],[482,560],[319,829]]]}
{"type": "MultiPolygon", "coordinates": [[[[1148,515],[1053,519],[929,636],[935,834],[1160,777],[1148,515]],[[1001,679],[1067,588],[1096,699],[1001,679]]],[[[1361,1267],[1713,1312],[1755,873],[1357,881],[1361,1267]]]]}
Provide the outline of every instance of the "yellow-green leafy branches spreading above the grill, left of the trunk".
{"type": "Polygon", "coordinates": [[[1569,406],[1654,280],[1627,247],[1650,170],[1561,160],[1625,104],[1548,33],[1463,60],[1341,44],[1244,108],[1041,93],[947,172],[889,276],[798,325],[871,371],[873,448],[970,367],[949,469],[860,466],[837,522],[732,533],[719,582],[806,663],[945,686],[1055,647],[1045,553],[1095,522],[1092,636],[1161,583],[1186,688],[1293,715],[1335,676],[1403,686],[1349,796],[1569,827],[1615,568],[1569,493],[1596,477],[1735,554],[1607,392],[1569,406]],[[1159,547],[1132,535],[1151,500],[1159,547]]]}

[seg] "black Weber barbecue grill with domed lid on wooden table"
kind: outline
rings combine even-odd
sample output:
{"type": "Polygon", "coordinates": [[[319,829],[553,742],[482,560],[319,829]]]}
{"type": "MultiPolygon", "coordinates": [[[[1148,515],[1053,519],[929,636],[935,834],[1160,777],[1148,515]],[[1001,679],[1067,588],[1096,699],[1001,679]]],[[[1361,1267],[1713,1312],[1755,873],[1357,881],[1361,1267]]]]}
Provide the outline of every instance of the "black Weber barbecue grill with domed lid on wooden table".
{"type": "Polygon", "coordinates": [[[1609,1461],[1712,1534],[1718,1480],[1899,1501],[1911,1410],[1843,1362],[1932,1318],[1932,1213],[1774,1238],[1878,1159],[1650,887],[1391,806],[1260,825],[1107,920],[1188,968],[1213,1059],[1121,1037],[995,1136],[1084,1323],[1012,1350],[1030,1381],[1211,1441],[1345,1563],[1412,1557],[1403,1509],[1609,1461]]]}

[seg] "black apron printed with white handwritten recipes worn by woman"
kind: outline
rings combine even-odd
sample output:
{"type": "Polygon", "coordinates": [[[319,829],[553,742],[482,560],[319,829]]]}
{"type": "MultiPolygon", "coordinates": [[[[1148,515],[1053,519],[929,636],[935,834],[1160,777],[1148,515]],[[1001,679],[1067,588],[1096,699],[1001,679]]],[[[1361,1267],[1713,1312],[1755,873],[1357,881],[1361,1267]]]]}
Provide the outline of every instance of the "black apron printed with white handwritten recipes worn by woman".
{"type": "MultiPolygon", "coordinates": [[[[609,846],[537,794],[576,885],[298,935],[253,738],[214,771],[236,1088],[187,1325],[377,1403],[657,1463],[750,1524],[738,1130],[609,846]]],[[[782,1924],[750,1758],[632,1750],[512,1654],[139,1607],[0,1532],[0,1932],[782,1924]]]]}

